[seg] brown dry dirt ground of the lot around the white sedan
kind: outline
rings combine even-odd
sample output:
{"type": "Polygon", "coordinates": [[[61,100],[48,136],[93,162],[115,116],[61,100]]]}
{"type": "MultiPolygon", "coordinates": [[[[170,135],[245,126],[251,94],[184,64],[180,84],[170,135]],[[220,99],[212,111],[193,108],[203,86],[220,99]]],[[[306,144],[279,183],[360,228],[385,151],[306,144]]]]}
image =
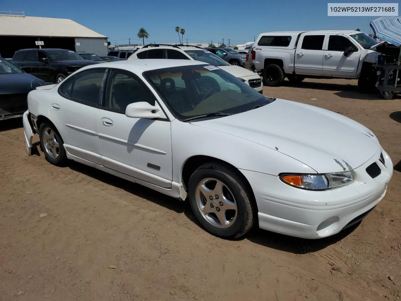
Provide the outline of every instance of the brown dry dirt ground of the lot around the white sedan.
{"type": "Polygon", "coordinates": [[[264,93],[338,112],[377,134],[396,170],[359,226],[313,241],[262,230],[222,240],[198,226],[186,203],[74,162],[59,168],[43,153],[29,157],[22,121],[2,122],[0,300],[398,300],[401,99],[358,94],[352,80],[264,93]]]}

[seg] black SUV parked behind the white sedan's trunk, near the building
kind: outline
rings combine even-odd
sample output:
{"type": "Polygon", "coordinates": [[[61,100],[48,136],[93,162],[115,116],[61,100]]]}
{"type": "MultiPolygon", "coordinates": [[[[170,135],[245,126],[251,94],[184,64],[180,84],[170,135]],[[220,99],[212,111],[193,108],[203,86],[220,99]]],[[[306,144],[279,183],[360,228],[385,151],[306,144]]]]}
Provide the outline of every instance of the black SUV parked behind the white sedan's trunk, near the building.
{"type": "Polygon", "coordinates": [[[36,48],[16,51],[11,61],[26,73],[50,83],[59,83],[79,68],[99,63],[83,59],[71,50],[36,48]]]}

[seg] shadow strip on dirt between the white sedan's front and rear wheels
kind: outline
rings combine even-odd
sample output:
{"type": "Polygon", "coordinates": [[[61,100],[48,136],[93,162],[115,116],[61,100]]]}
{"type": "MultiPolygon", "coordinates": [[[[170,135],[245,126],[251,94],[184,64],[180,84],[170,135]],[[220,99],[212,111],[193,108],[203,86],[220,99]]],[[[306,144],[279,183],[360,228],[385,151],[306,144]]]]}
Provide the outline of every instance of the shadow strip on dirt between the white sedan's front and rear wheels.
{"type": "Polygon", "coordinates": [[[182,202],[172,197],[168,197],[150,188],[132,183],[114,175],[110,175],[109,173],[99,171],[93,167],[89,167],[75,161],[69,161],[69,164],[66,167],[77,171],[78,173],[83,173],[84,175],[101,181],[107,185],[118,187],[124,191],[127,191],[128,193],[131,193],[132,195],[142,197],[143,199],[151,201],[152,203],[156,203],[176,213],[182,213],[188,210],[186,205],[187,202],[182,202]]]}

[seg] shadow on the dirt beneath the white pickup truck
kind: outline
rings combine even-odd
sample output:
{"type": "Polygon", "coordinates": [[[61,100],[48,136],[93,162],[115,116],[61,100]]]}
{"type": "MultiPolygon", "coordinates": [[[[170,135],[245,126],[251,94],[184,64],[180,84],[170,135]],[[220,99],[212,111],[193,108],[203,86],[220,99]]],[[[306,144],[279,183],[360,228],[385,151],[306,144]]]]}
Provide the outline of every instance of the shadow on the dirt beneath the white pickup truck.
{"type": "Polygon", "coordinates": [[[290,83],[289,81],[284,81],[284,85],[288,87],[296,87],[300,89],[318,89],[325,91],[337,91],[334,95],[341,98],[352,98],[360,100],[381,100],[379,93],[377,94],[363,94],[358,92],[358,87],[356,85],[344,85],[338,83],[314,83],[310,81],[302,81],[300,83],[290,83]]]}

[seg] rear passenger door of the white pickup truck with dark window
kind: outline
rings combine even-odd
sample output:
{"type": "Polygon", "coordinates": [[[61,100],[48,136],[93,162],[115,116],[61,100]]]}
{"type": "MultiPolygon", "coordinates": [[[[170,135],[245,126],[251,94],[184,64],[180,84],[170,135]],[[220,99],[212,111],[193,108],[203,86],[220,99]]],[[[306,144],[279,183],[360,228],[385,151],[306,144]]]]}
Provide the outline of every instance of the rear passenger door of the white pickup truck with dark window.
{"type": "Polygon", "coordinates": [[[323,45],[325,41],[326,35],[305,34],[300,37],[295,51],[296,74],[323,74],[323,45]]]}

